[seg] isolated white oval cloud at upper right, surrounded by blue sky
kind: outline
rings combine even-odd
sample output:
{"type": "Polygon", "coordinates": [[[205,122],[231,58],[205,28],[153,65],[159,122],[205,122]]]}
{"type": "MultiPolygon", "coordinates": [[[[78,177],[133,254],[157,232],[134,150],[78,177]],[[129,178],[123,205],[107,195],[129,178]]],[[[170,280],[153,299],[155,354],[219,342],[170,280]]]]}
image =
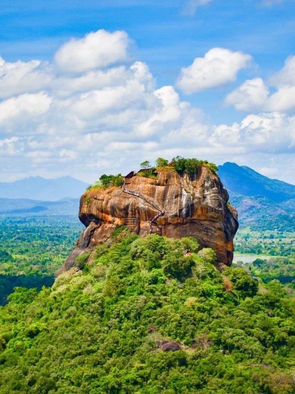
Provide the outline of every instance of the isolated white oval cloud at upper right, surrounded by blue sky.
{"type": "Polygon", "coordinates": [[[192,94],[234,82],[240,69],[249,67],[252,57],[243,52],[212,48],[204,58],[196,58],[191,66],[183,67],[177,87],[192,94]]]}

